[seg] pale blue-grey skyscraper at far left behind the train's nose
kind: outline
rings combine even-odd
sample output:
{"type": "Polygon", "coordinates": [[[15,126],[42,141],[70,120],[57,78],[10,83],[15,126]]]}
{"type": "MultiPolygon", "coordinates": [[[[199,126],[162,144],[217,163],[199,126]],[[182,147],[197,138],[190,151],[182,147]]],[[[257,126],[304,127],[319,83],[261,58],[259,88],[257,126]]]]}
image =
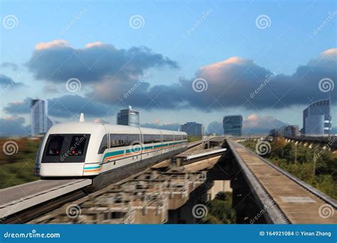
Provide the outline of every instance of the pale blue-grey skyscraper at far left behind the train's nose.
{"type": "Polygon", "coordinates": [[[31,101],[31,136],[46,134],[53,121],[48,117],[48,103],[43,99],[31,101]]]}

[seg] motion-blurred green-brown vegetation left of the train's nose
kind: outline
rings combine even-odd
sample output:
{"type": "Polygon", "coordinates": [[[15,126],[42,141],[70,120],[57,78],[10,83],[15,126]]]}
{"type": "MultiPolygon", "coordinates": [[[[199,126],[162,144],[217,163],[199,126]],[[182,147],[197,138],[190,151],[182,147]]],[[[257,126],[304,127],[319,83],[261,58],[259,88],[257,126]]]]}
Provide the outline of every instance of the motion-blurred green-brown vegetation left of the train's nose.
{"type": "Polygon", "coordinates": [[[0,139],[1,153],[0,153],[0,188],[8,188],[14,185],[28,183],[39,178],[34,176],[34,163],[38,146],[40,146],[41,139],[0,139]],[[17,153],[4,153],[6,142],[15,142],[12,148],[17,153]]]}

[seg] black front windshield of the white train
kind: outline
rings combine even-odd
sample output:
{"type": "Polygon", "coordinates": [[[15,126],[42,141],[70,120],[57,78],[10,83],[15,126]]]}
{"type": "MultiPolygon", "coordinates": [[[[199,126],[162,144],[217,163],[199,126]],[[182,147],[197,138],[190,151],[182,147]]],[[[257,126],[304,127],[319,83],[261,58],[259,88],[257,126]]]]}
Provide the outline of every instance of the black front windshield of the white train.
{"type": "Polygon", "coordinates": [[[42,163],[85,162],[90,134],[50,134],[42,163]]]}

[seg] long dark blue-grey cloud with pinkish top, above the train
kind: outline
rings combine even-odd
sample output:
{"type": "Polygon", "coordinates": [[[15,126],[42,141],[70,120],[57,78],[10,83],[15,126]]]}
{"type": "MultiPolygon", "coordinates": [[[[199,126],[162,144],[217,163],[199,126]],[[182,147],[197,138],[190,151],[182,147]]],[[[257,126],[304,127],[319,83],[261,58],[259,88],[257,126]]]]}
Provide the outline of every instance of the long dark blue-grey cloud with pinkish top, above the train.
{"type": "Polygon", "coordinates": [[[90,83],[105,79],[128,81],[154,67],[178,68],[173,60],[144,46],[124,50],[96,42],[73,48],[63,40],[38,43],[26,66],[38,80],[65,82],[75,77],[90,83]]]}

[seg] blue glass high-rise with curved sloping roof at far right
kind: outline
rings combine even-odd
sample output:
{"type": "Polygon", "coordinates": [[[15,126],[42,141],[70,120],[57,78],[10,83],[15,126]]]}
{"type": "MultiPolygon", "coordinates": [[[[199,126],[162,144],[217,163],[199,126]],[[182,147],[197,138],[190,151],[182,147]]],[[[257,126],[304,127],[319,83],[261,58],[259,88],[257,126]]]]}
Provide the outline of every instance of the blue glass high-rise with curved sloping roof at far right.
{"type": "Polygon", "coordinates": [[[330,99],[321,99],[304,109],[303,131],[308,135],[330,134],[330,99]]]}

